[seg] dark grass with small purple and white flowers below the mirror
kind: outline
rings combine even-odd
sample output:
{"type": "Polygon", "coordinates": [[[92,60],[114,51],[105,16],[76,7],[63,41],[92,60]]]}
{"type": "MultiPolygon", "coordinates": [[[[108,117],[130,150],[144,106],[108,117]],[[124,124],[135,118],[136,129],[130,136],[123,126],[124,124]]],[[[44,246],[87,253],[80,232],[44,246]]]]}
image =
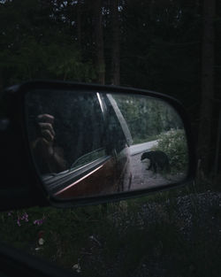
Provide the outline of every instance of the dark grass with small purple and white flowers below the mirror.
{"type": "Polygon", "coordinates": [[[3,212],[0,235],[4,242],[65,268],[79,265],[82,276],[140,276],[143,272],[147,276],[216,277],[221,271],[221,209],[213,206],[203,219],[197,195],[207,190],[207,182],[202,186],[192,183],[107,204],[106,212],[102,205],[3,212]],[[189,212],[178,217],[177,199],[188,195],[189,212]],[[25,212],[28,221],[20,219],[19,226],[17,220],[25,212]],[[43,221],[37,225],[36,219],[43,221]],[[38,243],[41,234],[42,246],[38,243]]]}

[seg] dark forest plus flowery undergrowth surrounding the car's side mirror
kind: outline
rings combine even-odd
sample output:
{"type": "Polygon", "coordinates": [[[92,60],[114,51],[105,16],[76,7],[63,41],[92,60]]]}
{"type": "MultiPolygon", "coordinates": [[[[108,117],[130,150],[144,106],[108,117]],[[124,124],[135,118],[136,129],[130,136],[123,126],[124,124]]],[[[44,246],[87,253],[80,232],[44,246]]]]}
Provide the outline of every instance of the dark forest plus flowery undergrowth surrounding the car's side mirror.
{"type": "Polygon", "coordinates": [[[220,45],[218,0],[0,0],[0,91],[54,79],[174,96],[198,161],[198,180],[184,189],[106,212],[2,212],[1,240],[83,276],[219,276],[220,45]]]}

